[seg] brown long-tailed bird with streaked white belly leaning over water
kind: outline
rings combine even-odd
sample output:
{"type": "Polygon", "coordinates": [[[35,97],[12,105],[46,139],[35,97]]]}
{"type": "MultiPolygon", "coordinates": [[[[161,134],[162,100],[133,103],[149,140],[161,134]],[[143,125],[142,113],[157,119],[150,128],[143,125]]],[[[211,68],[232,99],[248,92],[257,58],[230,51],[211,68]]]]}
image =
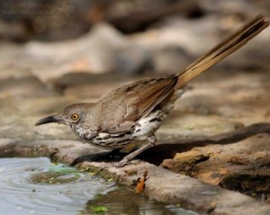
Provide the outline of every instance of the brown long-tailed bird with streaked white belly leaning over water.
{"type": "Polygon", "coordinates": [[[147,77],[123,85],[95,103],[71,104],[35,125],[65,124],[85,142],[110,150],[142,141],[139,148],[115,164],[116,167],[126,166],[133,157],[156,144],[155,132],[174,108],[175,100],[184,94],[188,82],[245,45],[268,25],[266,16],[259,14],[179,74],[147,77]]]}

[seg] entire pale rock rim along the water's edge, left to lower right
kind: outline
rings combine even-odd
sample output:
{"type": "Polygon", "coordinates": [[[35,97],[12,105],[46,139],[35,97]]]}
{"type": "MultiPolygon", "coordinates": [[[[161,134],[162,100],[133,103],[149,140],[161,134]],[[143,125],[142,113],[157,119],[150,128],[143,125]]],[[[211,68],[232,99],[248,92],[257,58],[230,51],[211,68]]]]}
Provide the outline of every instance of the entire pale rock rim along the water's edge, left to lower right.
{"type": "MultiPolygon", "coordinates": [[[[77,141],[33,140],[23,142],[15,139],[0,139],[1,156],[20,155],[49,156],[58,161],[71,164],[77,157],[103,152],[88,144],[77,141]]],[[[80,169],[99,173],[107,178],[113,178],[121,184],[130,186],[145,171],[148,171],[145,194],[159,202],[177,203],[186,209],[198,211],[201,214],[268,214],[270,205],[257,202],[246,195],[231,192],[217,185],[204,184],[199,179],[175,174],[159,166],[134,160],[129,166],[115,168],[113,163],[82,162],[80,169]],[[134,173],[134,174],[129,174],[134,173]],[[166,177],[165,177],[166,175],[166,177]],[[191,192],[192,191],[192,192],[191,192]]]]}

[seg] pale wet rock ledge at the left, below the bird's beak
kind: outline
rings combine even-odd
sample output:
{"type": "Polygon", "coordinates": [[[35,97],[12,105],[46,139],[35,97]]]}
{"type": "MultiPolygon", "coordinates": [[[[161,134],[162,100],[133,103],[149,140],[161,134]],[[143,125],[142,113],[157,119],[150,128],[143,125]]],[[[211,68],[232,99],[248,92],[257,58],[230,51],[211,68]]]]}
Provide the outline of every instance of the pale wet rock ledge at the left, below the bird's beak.
{"type": "Polygon", "coordinates": [[[106,150],[76,140],[0,139],[0,157],[50,157],[70,165],[77,157],[95,155],[106,150]]]}

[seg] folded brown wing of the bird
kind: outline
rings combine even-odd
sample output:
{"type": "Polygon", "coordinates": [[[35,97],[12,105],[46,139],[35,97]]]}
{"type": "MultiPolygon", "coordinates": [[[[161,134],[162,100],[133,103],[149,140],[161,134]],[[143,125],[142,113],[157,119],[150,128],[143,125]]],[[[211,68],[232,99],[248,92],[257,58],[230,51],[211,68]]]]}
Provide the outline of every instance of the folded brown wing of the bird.
{"type": "Polygon", "coordinates": [[[103,122],[106,124],[102,123],[101,128],[110,132],[130,129],[134,121],[171,96],[177,80],[177,76],[146,78],[104,95],[100,103],[103,103],[103,122]]]}

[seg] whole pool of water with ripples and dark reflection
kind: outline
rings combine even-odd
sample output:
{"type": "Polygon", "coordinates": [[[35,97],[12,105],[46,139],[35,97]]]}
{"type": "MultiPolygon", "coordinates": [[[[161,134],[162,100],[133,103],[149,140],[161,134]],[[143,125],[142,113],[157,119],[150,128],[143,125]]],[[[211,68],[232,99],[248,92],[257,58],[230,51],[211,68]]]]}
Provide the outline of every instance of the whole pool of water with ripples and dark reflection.
{"type": "Polygon", "coordinates": [[[44,157],[0,159],[0,208],[1,215],[196,214],[44,157]]]}

